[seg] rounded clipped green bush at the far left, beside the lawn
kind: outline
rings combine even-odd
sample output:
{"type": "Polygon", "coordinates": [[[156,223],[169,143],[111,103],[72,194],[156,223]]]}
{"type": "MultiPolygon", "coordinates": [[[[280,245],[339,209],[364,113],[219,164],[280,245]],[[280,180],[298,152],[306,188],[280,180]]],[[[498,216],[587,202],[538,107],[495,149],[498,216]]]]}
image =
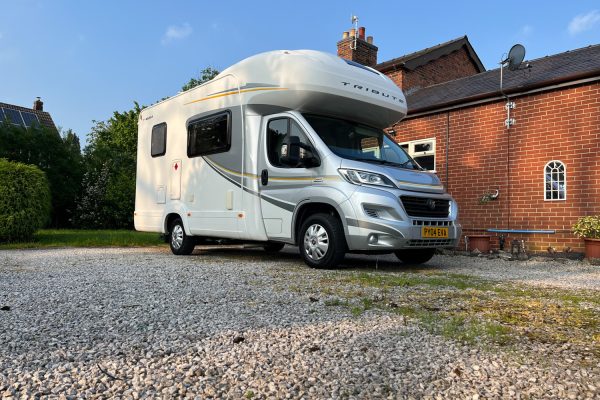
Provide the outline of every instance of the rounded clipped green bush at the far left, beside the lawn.
{"type": "Polygon", "coordinates": [[[0,158],[0,242],[30,240],[49,216],[46,174],[34,165],[0,158]]]}

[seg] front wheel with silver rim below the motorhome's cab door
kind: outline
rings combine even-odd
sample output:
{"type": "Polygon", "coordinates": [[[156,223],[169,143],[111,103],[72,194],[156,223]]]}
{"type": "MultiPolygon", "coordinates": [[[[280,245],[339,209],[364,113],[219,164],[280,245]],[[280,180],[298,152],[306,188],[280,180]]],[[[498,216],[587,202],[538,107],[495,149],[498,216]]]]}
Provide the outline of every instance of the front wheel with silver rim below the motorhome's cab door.
{"type": "Polygon", "coordinates": [[[329,214],[306,219],[298,237],[300,254],[311,268],[333,268],[346,255],[346,238],[340,221],[329,214]]]}

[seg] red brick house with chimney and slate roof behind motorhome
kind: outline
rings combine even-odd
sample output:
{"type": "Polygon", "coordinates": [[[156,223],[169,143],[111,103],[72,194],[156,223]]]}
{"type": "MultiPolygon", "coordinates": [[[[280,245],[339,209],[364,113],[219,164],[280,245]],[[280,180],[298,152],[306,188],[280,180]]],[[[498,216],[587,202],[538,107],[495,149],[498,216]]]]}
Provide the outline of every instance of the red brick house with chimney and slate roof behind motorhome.
{"type": "Polygon", "coordinates": [[[600,45],[504,69],[502,93],[500,70],[485,71],[466,36],[377,64],[361,29],[344,34],[338,55],[403,89],[408,114],[390,132],[458,201],[463,234],[583,251],[571,226],[600,214],[600,45]]]}

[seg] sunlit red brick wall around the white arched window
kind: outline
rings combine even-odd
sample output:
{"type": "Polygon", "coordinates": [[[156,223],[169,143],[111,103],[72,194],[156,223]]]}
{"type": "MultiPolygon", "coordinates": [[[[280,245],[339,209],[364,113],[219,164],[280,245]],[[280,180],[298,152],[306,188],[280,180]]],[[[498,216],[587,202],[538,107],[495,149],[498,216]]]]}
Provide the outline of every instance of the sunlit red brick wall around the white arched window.
{"type": "Polygon", "coordinates": [[[524,239],[532,251],[549,246],[583,251],[583,241],[570,230],[578,217],[600,214],[600,83],[513,100],[517,123],[510,131],[504,128],[504,102],[495,102],[407,119],[394,127],[396,139],[436,138],[438,175],[459,204],[465,234],[551,229],[557,234],[509,235],[508,240],[524,239]],[[544,200],[543,169],[551,160],[566,165],[565,201],[544,200]],[[484,193],[496,189],[497,200],[479,204],[484,193]]]}

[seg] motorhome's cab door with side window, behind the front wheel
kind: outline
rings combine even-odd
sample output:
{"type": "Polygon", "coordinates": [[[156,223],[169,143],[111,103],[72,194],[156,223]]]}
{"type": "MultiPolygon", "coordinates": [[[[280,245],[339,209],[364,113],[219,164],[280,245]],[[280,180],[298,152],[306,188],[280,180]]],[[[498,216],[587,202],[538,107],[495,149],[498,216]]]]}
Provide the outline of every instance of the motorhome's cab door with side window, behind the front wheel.
{"type": "Polygon", "coordinates": [[[264,121],[258,162],[263,222],[269,239],[287,240],[292,237],[292,217],[303,189],[315,178],[314,170],[303,166],[314,146],[293,115],[272,115],[264,121]]]}

